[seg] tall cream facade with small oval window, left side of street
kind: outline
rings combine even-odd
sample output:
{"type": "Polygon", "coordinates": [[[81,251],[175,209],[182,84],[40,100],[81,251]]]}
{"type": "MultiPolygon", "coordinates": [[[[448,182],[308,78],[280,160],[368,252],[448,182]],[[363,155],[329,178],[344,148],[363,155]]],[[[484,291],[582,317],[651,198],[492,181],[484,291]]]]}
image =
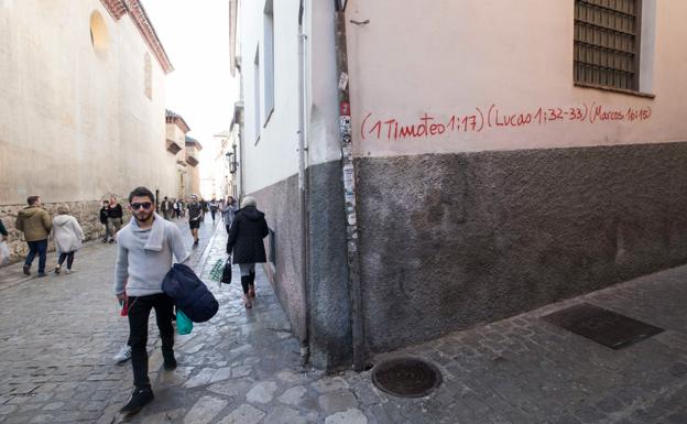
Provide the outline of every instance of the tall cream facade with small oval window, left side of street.
{"type": "MultiPolygon", "coordinates": [[[[173,70],[139,0],[23,0],[0,7],[0,216],[26,197],[68,203],[89,238],[100,199],[145,185],[178,192],[165,149],[173,70]]],[[[23,252],[12,231],[13,253],[23,252]]]]}

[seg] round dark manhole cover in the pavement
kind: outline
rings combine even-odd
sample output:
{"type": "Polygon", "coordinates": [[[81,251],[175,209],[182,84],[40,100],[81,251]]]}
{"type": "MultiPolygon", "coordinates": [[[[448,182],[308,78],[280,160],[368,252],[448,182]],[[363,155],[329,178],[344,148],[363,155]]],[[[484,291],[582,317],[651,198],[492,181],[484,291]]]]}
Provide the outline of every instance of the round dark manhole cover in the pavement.
{"type": "Polygon", "coordinates": [[[374,366],[372,382],[394,396],[421,398],[441,383],[441,373],[435,366],[423,360],[396,358],[374,366]]]}

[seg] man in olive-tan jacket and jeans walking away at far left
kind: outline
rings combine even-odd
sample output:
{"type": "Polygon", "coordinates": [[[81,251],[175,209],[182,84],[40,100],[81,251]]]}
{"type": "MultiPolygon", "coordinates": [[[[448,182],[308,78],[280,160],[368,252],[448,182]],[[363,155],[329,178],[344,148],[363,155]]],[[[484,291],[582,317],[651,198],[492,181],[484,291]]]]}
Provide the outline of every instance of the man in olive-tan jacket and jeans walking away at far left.
{"type": "Polygon", "coordinates": [[[47,236],[53,228],[53,220],[47,210],[41,207],[40,196],[29,196],[29,206],[17,215],[15,227],[24,233],[29,244],[29,254],[24,261],[24,274],[31,275],[31,263],[39,256],[39,276],[45,276],[45,260],[47,257],[47,236]]]}

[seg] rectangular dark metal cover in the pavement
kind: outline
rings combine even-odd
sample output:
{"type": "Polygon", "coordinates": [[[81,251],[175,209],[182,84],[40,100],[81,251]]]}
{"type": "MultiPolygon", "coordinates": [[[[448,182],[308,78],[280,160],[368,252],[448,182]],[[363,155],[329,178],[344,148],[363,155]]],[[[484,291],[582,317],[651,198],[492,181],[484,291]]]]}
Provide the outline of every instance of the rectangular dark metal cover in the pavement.
{"type": "Polygon", "coordinates": [[[663,328],[587,303],[543,316],[542,319],[611,349],[630,346],[663,331],[663,328]]]}

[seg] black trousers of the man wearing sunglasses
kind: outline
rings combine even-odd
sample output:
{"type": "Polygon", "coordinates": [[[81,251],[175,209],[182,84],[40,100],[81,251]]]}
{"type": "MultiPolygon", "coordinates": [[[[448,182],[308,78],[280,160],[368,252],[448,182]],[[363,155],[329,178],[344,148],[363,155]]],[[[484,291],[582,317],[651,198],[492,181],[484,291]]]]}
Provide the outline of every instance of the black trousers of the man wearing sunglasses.
{"type": "Polygon", "coordinates": [[[155,318],[162,339],[162,355],[173,355],[174,327],[172,314],[174,301],[164,293],[150,296],[129,297],[129,343],[131,346],[131,368],[133,385],[138,389],[150,387],[148,378],[148,318],[155,308],[155,318]]]}

